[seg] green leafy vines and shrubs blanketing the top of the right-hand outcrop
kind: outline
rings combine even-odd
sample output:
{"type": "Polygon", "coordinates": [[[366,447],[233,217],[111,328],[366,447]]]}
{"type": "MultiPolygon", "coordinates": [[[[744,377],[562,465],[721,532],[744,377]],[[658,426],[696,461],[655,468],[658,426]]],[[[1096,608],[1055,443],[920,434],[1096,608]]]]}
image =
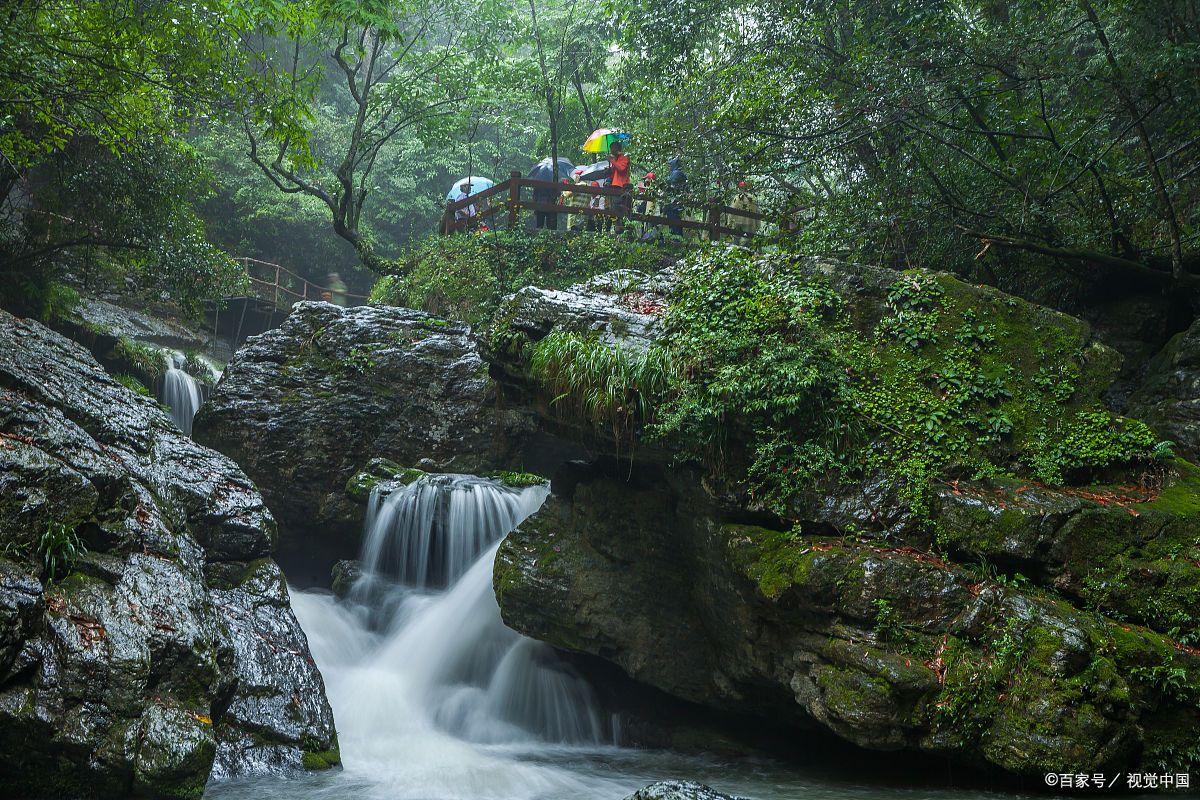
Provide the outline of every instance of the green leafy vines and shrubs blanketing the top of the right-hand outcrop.
{"type": "Polygon", "coordinates": [[[1079,482],[1153,458],[1145,426],[1082,405],[1084,329],[1040,330],[1030,307],[913,272],[864,335],[800,260],[710,248],[677,273],[654,433],[781,516],[829,481],[881,475],[922,516],[937,480],[1079,482]]]}

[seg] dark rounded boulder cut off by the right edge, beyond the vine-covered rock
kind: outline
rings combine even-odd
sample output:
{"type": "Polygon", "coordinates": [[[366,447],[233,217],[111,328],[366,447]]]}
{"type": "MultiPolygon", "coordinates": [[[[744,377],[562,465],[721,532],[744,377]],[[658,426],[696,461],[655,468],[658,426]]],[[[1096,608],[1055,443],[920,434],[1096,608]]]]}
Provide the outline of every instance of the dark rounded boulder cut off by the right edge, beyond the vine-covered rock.
{"type": "Polygon", "coordinates": [[[1174,441],[1180,456],[1200,462],[1200,321],[1171,338],[1150,362],[1129,398],[1129,413],[1174,441]]]}

